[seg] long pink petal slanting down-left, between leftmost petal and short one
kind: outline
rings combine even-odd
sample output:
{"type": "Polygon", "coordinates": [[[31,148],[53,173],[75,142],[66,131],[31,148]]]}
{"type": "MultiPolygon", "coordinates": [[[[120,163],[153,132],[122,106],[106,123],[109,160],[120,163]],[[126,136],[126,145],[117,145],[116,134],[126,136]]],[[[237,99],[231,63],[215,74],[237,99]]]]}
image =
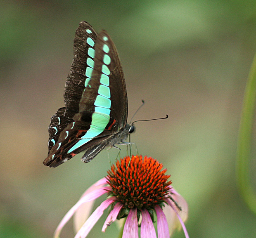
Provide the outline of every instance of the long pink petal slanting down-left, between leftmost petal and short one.
{"type": "Polygon", "coordinates": [[[100,219],[104,210],[115,201],[115,197],[107,198],[107,200],[103,201],[99,207],[96,208],[94,212],[90,215],[87,221],[83,224],[81,229],[76,233],[75,238],[85,238],[95,223],[100,219]]]}

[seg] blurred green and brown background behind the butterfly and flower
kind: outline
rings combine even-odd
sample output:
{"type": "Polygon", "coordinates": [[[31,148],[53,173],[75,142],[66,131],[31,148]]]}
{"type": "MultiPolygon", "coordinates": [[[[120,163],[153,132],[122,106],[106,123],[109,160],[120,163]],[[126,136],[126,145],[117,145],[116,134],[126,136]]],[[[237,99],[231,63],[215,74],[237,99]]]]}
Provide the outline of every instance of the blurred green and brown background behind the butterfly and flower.
{"type": "MultiPolygon", "coordinates": [[[[256,51],[256,1],[9,0],[0,6],[0,237],[51,237],[109,168],[107,151],[88,164],[78,155],[55,169],[43,165],[80,21],[107,30],[116,44],[128,120],[141,99],[146,104],[136,120],[169,115],[136,123],[132,141],[168,168],[189,203],[190,238],[256,236],[256,217],[235,184],[242,99],[256,51]]],[[[256,163],[251,167],[255,180],[256,163]]],[[[105,217],[88,237],[117,236],[114,224],[100,231],[105,217]]],[[[73,237],[72,223],[62,237],[73,237]]]]}

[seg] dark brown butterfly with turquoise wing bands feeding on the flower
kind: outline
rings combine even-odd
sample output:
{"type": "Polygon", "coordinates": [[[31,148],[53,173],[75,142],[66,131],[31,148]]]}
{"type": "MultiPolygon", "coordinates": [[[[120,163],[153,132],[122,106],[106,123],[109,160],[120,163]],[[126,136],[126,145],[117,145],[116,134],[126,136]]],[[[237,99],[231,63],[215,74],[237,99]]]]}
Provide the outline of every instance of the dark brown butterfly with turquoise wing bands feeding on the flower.
{"type": "Polygon", "coordinates": [[[82,151],[88,163],[104,147],[127,143],[134,131],[127,123],[126,84],[114,42],[85,21],[76,30],[64,103],[51,118],[44,165],[57,167],[82,151]]]}

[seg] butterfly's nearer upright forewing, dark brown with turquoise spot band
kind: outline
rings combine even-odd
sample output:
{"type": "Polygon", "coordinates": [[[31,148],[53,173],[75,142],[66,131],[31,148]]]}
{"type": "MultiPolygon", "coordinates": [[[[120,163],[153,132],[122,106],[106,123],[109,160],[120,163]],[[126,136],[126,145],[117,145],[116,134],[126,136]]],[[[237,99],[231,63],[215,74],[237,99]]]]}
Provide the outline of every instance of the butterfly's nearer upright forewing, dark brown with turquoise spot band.
{"type": "MultiPolygon", "coordinates": [[[[92,110],[106,114],[105,117],[109,116],[107,126],[112,125],[112,132],[118,132],[126,126],[128,112],[126,85],[119,55],[106,31],[101,31],[96,40],[94,61],[92,78],[82,96],[80,111],[88,111],[88,105],[94,101],[92,110]]],[[[106,130],[105,133],[109,134],[109,131],[106,130]]]]}

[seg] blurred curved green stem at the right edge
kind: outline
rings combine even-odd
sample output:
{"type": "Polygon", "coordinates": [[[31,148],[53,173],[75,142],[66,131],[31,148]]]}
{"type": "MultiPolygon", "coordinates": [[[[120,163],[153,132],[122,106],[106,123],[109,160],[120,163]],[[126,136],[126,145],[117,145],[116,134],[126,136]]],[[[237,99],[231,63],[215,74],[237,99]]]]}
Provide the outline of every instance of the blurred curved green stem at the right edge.
{"type": "Polygon", "coordinates": [[[256,101],[256,54],[251,65],[244,93],[244,105],[237,145],[237,186],[249,209],[256,215],[256,191],[250,183],[252,128],[256,101]]]}

